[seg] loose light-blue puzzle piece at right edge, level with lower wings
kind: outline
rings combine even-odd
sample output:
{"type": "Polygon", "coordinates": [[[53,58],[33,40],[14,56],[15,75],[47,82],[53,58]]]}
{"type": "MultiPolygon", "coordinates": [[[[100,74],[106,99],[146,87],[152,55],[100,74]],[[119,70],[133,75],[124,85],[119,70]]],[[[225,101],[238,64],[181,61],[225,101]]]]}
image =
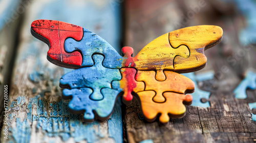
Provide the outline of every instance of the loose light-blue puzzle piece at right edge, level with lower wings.
{"type": "Polygon", "coordinates": [[[248,71],[246,73],[245,79],[234,89],[234,97],[237,99],[246,99],[246,89],[255,89],[256,88],[256,73],[248,71]]]}

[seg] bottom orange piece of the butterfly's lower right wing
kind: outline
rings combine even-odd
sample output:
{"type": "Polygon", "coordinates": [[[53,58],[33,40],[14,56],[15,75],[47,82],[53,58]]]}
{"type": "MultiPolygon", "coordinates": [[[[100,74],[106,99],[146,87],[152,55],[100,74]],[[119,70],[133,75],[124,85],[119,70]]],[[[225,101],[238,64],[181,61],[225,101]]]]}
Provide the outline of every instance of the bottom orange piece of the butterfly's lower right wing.
{"type": "Polygon", "coordinates": [[[184,95],[176,92],[164,92],[163,96],[166,98],[164,103],[156,103],[152,99],[156,95],[153,90],[137,92],[141,110],[147,122],[153,122],[160,113],[159,121],[167,123],[170,117],[180,118],[185,115],[186,107],[183,105],[190,105],[192,96],[190,94],[184,95]]]}

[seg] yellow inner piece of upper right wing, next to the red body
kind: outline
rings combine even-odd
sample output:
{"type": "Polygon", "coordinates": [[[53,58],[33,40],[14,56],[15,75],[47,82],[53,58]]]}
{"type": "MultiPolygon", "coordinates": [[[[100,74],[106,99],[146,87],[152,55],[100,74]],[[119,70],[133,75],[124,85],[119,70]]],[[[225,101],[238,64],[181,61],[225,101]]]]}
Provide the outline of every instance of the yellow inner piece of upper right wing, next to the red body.
{"type": "Polygon", "coordinates": [[[144,46],[133,60],[138,70],[174,70],[176,56],[188,58],[189,49],[186,45],[170,45],[169,34],[166,33],[144,46]]]}

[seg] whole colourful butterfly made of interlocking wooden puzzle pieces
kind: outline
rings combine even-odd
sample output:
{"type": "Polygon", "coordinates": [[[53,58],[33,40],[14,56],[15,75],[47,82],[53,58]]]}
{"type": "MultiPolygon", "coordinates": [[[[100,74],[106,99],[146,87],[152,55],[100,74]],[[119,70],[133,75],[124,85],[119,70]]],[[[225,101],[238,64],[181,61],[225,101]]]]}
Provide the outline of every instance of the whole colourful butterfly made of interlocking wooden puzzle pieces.
{"type": "Polygon", "coordinates": [[[72,113],[85,122],[110,117],[115,101],[125,104],[137,98],[146,121],[185,115],[194,92],[194,82],[180,73],[206,66],[204,51],[219,43],[218,26],[194,26],[166,33],[148,43],[132,57],[133,48],[122,48],[124,56],[95,33],[56,20],[35,20],[31,33],[49,45],[47,59],[73,68],[60,79],[63,99],[71,99],[72,113]]]}

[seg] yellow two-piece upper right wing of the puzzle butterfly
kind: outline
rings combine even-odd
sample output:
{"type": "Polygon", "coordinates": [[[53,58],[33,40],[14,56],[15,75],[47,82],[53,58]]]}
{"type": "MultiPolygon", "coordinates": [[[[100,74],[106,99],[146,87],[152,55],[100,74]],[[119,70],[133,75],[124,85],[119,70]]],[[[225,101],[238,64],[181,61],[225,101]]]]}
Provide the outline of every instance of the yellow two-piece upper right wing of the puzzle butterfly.
{"type": "Polygon", "coordinates": [[[194,26],[166,33],[148,43],[136,55],[138,70],[173,70],[186,73],[203,68],[204,50],[221,41],[223,31],[218,26],[194,26]]]}

